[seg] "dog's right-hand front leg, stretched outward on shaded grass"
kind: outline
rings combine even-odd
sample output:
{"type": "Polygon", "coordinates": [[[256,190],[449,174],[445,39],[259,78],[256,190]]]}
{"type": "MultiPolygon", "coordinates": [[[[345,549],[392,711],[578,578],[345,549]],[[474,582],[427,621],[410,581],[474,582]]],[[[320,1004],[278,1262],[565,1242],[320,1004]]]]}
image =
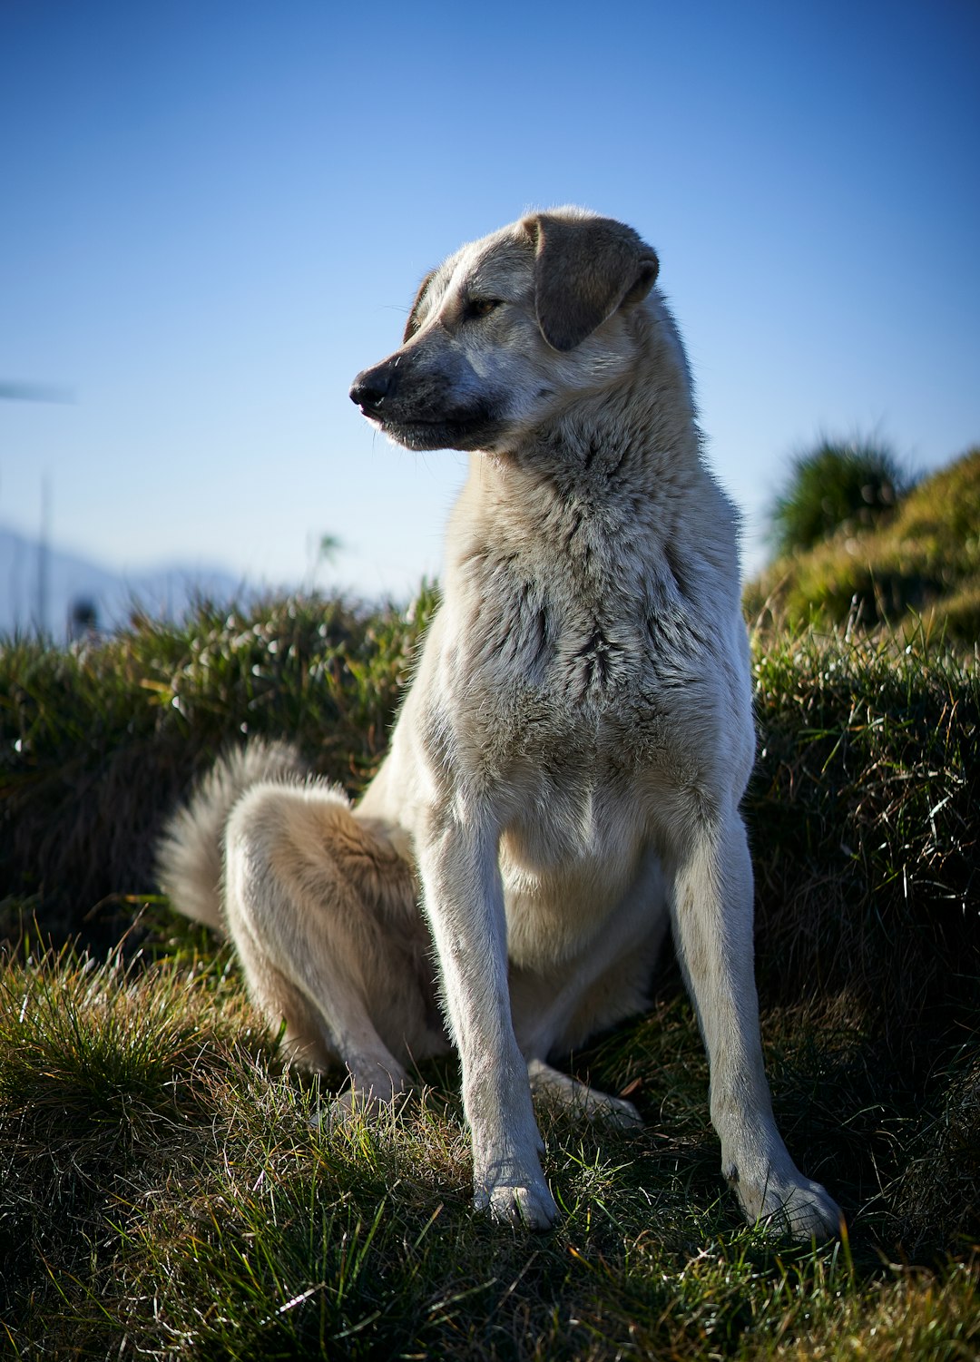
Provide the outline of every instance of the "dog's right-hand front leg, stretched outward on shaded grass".
{"type": "Polygon", "coordinates": [[[772,1113],[753,967],[753,877],[738,810],[701,805],[675,864],[674,928],[710,1066],[710,1114],[721,1170],[750,1222],[794,1238],[837,1234],[840,1208],[803,1177],[772,1113]]]}

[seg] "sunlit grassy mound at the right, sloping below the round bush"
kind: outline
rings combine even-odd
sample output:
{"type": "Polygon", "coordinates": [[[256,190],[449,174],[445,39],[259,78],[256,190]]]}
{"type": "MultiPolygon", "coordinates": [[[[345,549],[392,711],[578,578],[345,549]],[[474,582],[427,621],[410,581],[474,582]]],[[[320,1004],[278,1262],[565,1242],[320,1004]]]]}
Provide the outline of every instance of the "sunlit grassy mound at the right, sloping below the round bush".
{"type": "Polygon", "coordinates": [[[917,484],[874,530],[845,530],[770,564],[746,591],[750,618],[945,631],[980,639],[980,448],[917,484]]]}

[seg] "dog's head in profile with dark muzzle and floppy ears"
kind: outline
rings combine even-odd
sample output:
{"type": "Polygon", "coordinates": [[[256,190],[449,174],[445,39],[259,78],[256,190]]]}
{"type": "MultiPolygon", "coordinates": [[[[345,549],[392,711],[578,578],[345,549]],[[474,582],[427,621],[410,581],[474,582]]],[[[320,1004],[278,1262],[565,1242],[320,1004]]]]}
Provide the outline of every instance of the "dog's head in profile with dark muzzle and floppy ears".
{"type": "Polygon", "coordinates": [[[521,218],[422,281],[404,343],[351,400],[410,449],[494,449],[629,372],[657,257],[580,208],[521,218]]]}

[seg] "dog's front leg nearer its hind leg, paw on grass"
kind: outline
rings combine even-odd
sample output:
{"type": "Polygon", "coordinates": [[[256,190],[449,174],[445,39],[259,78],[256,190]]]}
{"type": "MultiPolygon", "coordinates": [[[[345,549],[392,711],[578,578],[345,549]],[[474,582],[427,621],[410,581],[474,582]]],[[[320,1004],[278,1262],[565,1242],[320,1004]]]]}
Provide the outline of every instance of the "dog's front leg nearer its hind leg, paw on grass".
{"type": "Polygon", "coordinates": [[[444,821],[419,847],[419,872],[463,1069],[476,1205],[495,1220],[547,1229],[558,1212],[510,1019],[497,838],[444,821]]]}

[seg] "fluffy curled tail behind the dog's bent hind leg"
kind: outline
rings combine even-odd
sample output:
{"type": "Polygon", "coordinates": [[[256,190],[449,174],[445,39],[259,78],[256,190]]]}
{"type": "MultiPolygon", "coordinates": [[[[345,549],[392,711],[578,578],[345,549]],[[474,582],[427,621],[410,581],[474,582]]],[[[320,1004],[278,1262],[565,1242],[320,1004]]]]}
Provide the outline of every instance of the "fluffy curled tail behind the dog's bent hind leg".
{"type": "Polygon", "coordinates": [[[223,933],[222,862],[231,809],[260,780],[305,776],[306,765],[289,742],[253,738],[220,756],[188,802],[167,819],[157,844],[157,883],[173,907],[223,933]]]}

